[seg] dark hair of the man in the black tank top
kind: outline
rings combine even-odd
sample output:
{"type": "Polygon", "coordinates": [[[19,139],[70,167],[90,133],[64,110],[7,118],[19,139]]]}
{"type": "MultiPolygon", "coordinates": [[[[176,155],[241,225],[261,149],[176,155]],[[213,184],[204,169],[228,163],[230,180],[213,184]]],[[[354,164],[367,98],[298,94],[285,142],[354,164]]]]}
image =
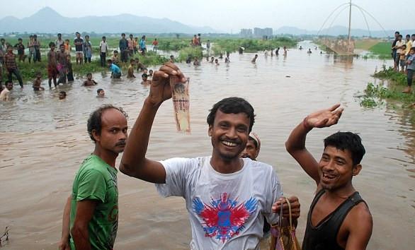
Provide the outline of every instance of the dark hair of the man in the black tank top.
{"type": "Polygon", "coordinates": [[[337,132],[324,139],[324,148],[333,146],[339,150],[349,150],[353,160],[353,166],[358,165],[365,155],[365,147],[357,133],[337,132]]]}

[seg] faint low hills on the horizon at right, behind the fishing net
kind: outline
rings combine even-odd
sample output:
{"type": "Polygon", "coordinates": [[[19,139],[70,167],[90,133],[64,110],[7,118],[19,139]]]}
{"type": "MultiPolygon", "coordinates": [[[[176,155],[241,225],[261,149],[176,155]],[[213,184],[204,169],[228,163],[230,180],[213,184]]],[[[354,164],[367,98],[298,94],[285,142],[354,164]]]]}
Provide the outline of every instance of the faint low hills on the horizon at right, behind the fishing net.
{"type": "MultiPolygon", "coordinates": [[[[372,37],[393,37],[394,32],[396,30],[385,30],[386,34],[383,30],[370,30],[370,35],[372,37]]],[[[274,30],[275,35],[280,34],[290,34],[290,35],[317,35],[318,30],[304,30],[299,29],[295,27],[290,26],[283,26],[281,28],[278,28],[274,30]]],[[[407,34],[415,34],[415,30],[399,30],[402,35],[407,34]]],[[[348,34],[348,28],[344,26],[333,26],[331,28],[325,28],[319,32],[319,35],[347,35],[348,34]]],[[[365,29],[351,29],[351,35],[356,37],[368,37],[369,31],[365,29]]]]}

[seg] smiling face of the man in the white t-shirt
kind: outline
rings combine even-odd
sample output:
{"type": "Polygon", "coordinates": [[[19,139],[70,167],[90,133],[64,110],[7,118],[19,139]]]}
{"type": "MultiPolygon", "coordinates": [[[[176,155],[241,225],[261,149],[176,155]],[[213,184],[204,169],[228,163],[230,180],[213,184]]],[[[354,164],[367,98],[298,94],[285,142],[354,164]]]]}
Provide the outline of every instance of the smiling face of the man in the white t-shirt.
{"type": "Polygon", "coordinates": [[[248,141],[249,124],[249,118],[243,112],[225,114],[218,109],[215,121],[208,130],[213,146],[212,155],[227,161],[238,159],[248,141]]]}

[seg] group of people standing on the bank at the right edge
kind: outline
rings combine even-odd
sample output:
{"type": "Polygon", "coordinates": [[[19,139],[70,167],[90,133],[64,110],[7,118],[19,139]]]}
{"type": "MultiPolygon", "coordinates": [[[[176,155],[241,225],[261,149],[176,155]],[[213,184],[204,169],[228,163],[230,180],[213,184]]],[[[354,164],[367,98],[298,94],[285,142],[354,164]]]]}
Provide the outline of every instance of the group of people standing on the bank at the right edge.
{"type": "Polygon", "coordinates": [[[410,94],[415,71],[415,34],[405,35],[405,40],[403,40],[403,35],[396,31],[394,38],[391,52],[394,71],[407,74],[407,88],[402,93],[410,94]]]}

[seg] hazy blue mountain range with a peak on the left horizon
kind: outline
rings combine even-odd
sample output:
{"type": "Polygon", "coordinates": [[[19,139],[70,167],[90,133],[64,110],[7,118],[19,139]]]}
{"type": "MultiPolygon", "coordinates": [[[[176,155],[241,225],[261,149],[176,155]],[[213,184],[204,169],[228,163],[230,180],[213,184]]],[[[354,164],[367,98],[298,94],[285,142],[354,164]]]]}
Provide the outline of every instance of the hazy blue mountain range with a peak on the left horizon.
{"type": "Polygon", "coordinates": [[[215,33],[210,27],[194,27],[167,18],[149,18],[121,14],[118,16],[85,16],[67,18],[45,7],[28,18],[6,16],[0,19],[1,32],[96,32],[96,33],[215,33]]]}

